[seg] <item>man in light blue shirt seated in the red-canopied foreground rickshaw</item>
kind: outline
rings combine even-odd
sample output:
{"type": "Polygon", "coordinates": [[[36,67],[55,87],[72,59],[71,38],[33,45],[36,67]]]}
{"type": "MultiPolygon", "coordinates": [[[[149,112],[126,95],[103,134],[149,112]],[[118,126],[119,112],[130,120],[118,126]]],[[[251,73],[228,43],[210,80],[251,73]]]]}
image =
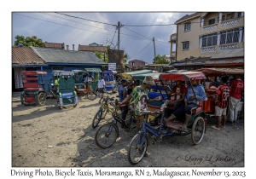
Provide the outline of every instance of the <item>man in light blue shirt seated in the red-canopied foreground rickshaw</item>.
{"type": "Polygon", "coordinates": [[[173,120],[185,113],[185,122],[180,128],[180,130],[182,131],[187,130],[190,115],[192,114],[193,110],[196,109],[196,107],[198,106],[199,101],[207,101],[207,94],[204,90],[204,87],[201,84],[198,84],[195,78],[191,79],[191,84],[192,86],[189,86],[187,94],[185,95],[184,103],[177,107],[177,109],[167,119],[167,121],[173,120]],[[195,92],[195,95],[193,90],[195,92]]]}

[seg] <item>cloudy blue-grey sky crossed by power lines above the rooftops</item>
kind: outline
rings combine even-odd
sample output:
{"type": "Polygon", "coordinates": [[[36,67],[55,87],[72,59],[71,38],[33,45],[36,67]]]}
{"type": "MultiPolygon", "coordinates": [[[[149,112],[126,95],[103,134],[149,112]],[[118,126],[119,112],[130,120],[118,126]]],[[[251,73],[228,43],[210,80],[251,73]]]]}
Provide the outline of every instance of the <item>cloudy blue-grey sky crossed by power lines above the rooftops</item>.
{"type": "MultiPolygon", "coordinates": [[[[37,36],[43,42],[65,43],[65,49],[99,43],[125,50],[128,60],[152,63],[155,55],[170,55],[175,21],[193,12],[12,12],[12,44],[15,36],[37,36]],[[152,26],[157,25],[157,26],[152,26]],[[168,26],[166,26],[168,25],[168,26]],[[154,41],[153,41],[154,38],[154,41]]],[[[175,50],[175,45],[173,46],[175,50]]]]}

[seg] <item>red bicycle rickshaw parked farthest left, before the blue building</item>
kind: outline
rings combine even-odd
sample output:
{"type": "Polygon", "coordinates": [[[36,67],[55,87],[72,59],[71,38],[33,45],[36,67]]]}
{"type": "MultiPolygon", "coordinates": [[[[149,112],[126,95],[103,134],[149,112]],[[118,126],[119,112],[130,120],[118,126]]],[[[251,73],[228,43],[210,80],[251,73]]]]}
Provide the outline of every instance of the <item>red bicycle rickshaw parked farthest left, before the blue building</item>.
{"type": "Polygon", "coordinates": [[[21,104],[27,106],[35,102],[36,105],[43,106],[46,101],[44,81],[47,72],[23,71],[21,75],[24,88],[20,94],[21,104]]]}

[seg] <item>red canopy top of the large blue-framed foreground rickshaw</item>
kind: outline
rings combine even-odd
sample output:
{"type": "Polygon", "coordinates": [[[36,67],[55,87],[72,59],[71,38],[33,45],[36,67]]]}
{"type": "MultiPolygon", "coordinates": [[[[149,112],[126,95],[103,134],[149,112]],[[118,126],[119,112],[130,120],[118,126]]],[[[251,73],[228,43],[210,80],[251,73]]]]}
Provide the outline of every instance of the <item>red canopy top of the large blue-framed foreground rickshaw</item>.
{"type": "Polygon", "coordinates": [[[202,72],[173,72],[160,74],[160,80],[182,80],[189,81],[191,79],[206,79],[202,72]]]}

